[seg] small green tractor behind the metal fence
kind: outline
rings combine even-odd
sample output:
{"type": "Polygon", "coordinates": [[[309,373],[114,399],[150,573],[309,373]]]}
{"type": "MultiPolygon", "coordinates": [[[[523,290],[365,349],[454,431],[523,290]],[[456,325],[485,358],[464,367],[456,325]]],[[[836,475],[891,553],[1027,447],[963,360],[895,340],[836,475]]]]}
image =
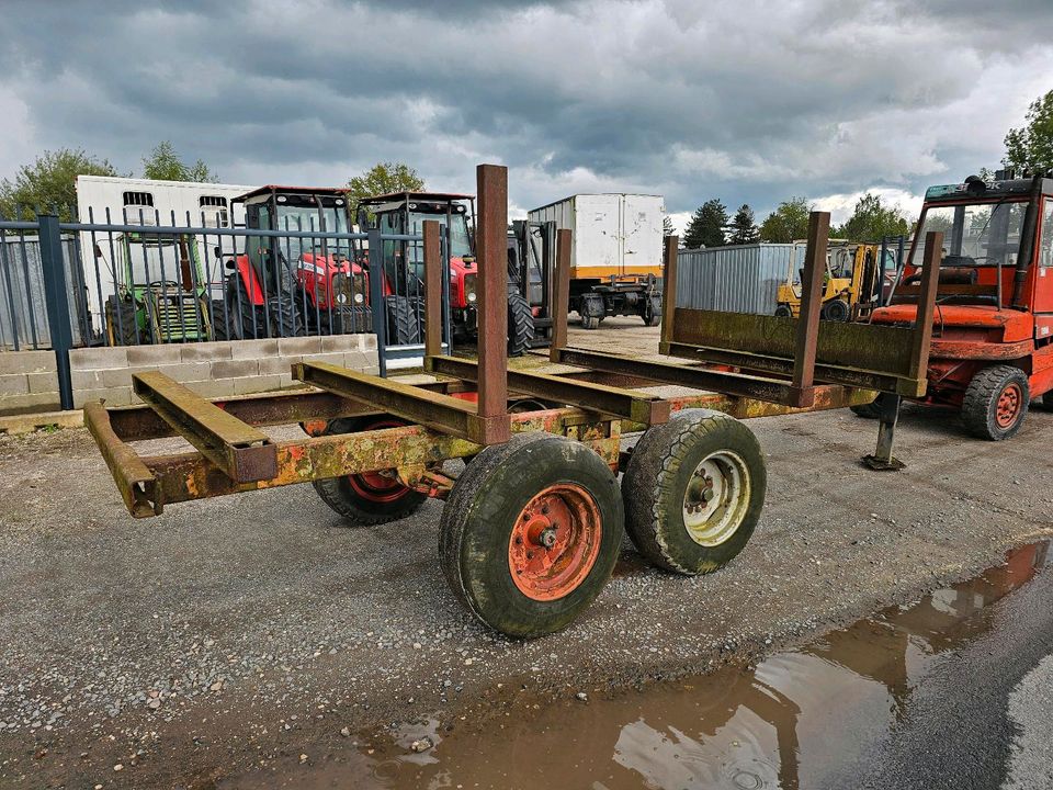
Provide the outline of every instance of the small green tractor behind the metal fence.
{"type": "MultiPolygon", "coordinates": [[[[114,244],[115,293],[105,307],[111,346],[213,339],[208,280],[194,236],[132,233],[114,244]]],[[[103,257],[98,245],[95,257],[103,257]]]]}

